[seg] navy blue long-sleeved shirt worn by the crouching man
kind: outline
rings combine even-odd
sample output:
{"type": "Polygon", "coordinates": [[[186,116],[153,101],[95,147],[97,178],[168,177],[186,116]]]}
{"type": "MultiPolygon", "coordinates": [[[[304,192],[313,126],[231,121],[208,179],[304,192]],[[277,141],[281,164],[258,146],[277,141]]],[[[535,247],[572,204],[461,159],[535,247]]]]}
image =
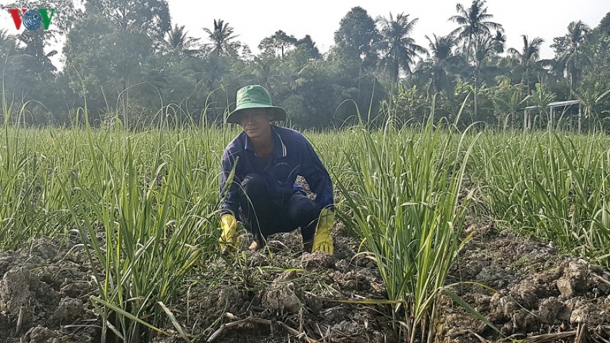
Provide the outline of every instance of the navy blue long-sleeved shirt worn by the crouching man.
{"type": "Polygon", "coordinates": [[[298,131],[271,125],[274,146],[273,154],[266,166],[261,164],[254,146],[245,132],[241,132],[223,152],[220,173],[220,203],[222,214],[238,215],[238,190],[245,175],[262,173],[275,184],[279,197],[302,190],[296,183],[297,175],[305,178],[310,190],[316,194],[315,202],[322,207],[333,204],[333,184],[329,172],[324,168],[311,143],[298,131]],[[234,166],[233,182],[227,189],[227,180],[234,166]]]}

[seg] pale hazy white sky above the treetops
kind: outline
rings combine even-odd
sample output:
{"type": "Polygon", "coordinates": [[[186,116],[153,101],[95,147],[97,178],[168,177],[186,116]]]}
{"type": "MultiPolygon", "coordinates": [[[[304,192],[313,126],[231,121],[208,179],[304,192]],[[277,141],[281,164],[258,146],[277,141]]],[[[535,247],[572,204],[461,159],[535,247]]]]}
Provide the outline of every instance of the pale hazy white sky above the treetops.
{"type": "MultiPolygon", "coordinates": [[[[214,19],[223,19],[234,28],[237,39],[250,46],[254,53],[265,37],[277,30],[302,38],[310,35],[321,52],[334,44],[334,33],[351,8],[360,6],[370,17],[394,17],[403,12],[409,19],[418,19],[412,37],[416,44],[428,49],[428,35],[446,35],[458,27],[448,21],[458,14],[455,5],[469,7],[471,1],[456,0],[308,0],[308,1],[193,1],[168,0],[172,22],[184,25],[192,37],[208,42],[202,28],[214,28],[214,19]]],[[[488,0],[487,13],[491,21],[502,24],[507,36],[507,48],[521,51],[523,38],[545,40],[541,58],[552,58],[550,49],[554,37],[567,33],[570,21],[582,20],[594,28],[610,12],[610,0],[488,0]]]]}

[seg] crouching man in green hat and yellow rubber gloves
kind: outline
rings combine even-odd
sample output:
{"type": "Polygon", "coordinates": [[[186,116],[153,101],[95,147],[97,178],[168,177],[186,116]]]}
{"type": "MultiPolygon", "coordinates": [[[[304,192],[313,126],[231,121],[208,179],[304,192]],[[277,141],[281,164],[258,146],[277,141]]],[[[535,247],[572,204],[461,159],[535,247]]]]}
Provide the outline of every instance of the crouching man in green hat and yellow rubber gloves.
{"type": "Polygon", "coordinates": [[[238,247],[237,220],[254,236],[252,251],[264,247],[268,236],[300,227],[304,251],[333,253],[331,177],[300,132],[270,123],[284,120],[286,111],[272,105],[264,87],[237,91],[227,123],[238,124],[243,132],[225,148],[220,174],[223,254],[238,247]],[[306,179],[315,200],[296,183],[297,175],[306,179]]]}

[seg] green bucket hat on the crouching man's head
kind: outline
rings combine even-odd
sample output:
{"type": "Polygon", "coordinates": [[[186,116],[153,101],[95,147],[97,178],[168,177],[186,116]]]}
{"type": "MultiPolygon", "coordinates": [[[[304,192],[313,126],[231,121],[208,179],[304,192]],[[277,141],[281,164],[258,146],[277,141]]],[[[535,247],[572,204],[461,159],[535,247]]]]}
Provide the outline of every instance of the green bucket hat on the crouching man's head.
{"type": "Polygon", "coordinates": [[[274,106],[271,103],[271,96],[265,87],[250,85],[240,88],[237,91],[237,107],[227,116],[227,123],[238,123],[239,112],[248,108],[268,108],[272,109],[272,121],[285,121],[286,111],[274,106]]]}

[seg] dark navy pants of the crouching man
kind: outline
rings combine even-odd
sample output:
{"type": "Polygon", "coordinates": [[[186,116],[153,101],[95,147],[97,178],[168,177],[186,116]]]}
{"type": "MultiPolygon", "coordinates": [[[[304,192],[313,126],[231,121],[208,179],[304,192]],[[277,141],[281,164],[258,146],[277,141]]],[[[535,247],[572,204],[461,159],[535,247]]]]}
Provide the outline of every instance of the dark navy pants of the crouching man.
{"type": "Polygon", "coordinates": [[[261,244],[272,234],[299,227],[303,240],[311,240],[322,211],[322,207],[309,199],[304,191],[275,193],[273,181],[259,173],[251,173],[243,178],[239,205],[245,228],[261,244]]]}

